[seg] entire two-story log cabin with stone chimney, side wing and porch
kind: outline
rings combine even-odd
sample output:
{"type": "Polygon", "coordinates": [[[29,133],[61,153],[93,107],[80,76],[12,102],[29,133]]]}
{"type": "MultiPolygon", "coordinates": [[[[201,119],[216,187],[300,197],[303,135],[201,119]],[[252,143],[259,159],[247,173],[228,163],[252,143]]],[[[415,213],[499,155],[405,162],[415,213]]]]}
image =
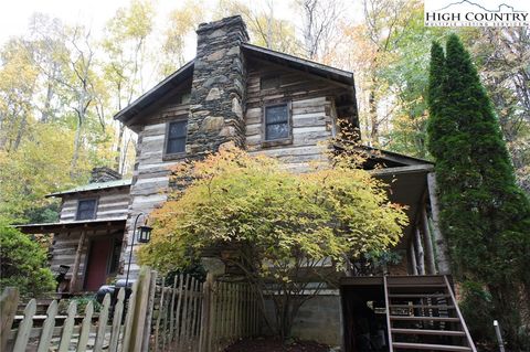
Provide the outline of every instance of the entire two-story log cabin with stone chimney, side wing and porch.
{"type": "MultiPolygon", "coordinates": [[[[359,127],[352,73],[250,44],[241,17],[202,23],[197,34],[194,60],[115,116],[138,135],[132,179],[94,178],[51,194],[62,199],[60,222],[20,227],[55,234],[51,265],[72,267],[71,290],[96,289],[117,271],[124,277],[132,223],[167,200],[170,167],[230,143],[305,172],[328,162],[321,141],[335,136],[338,119],[359,127]]],[[[410,225],[394,248],[401,259],[386,268],[390,276],[360,264],[339,288],[303,307],[293,333],[346,351],[363,351],[367,333],[381,351],[474,350],[446,276],[433,164],[361,149],[364,169],[389,183],[391,201],[407,206],[410,225]],[[359,322],[368,320],[374,328],[363,331],[359,322]]],[[[138,269],[134,259],[132,278],[138,269]]]]}

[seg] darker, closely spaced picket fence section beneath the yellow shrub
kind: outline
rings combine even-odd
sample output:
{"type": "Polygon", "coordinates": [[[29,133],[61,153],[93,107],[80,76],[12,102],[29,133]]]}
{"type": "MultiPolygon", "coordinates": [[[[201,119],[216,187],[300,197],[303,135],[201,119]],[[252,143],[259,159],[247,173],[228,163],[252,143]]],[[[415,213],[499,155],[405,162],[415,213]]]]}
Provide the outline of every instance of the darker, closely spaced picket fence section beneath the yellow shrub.
{"type": "Polygon", "coordinates": [[[218,352],[257,335],[257,299],[246,284],[199,282],[188,275],[156,288],[150,351],[218,352]]]}

